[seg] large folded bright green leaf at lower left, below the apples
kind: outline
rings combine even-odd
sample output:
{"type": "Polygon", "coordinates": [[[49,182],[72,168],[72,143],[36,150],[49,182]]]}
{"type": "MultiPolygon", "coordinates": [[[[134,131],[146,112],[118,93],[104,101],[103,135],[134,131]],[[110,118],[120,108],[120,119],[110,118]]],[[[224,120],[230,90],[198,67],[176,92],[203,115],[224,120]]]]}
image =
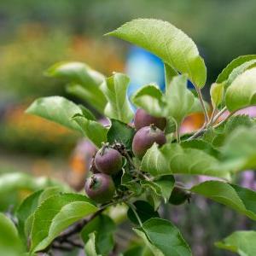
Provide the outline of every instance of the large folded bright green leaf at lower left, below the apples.
{"type": "Polygon", "coordinates": [[[48,247],[61,231],[96,211],[97,208],[84,195],[62,194],[49,197],[34,213],[31,252],[48,247]]]}

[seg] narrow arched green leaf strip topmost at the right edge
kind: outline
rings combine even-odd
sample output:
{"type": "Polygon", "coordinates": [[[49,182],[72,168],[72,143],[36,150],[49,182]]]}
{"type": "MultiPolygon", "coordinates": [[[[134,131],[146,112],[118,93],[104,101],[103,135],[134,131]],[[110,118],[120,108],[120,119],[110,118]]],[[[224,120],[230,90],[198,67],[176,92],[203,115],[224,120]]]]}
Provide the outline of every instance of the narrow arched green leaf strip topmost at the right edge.
{"type": "Polygon", "coordinates": [[[229,79],[230,73],[232,73],[233,70],[236,69],[236,67],[239,67],[245,62],[251,61],[253,59],[256,59],[256,55],[242,55],[237,57],[235,60],[231,61],[230,64],[225,67],[224,70],[218,75],[216,83],[219,84],[229,79]]]}

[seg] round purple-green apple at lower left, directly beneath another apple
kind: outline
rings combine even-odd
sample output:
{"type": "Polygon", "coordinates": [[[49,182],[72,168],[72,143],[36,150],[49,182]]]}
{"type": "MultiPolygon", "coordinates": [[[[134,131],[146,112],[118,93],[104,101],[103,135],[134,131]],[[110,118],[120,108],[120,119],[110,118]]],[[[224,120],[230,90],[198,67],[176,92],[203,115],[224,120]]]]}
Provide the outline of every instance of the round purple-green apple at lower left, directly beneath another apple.
{"type": "Polygon", "coordinates": [[[84,187],[86,195],[97,203],[111,201],[115,191],[112,177],[104,173],[96,173],[87,178],[84,187]]]}

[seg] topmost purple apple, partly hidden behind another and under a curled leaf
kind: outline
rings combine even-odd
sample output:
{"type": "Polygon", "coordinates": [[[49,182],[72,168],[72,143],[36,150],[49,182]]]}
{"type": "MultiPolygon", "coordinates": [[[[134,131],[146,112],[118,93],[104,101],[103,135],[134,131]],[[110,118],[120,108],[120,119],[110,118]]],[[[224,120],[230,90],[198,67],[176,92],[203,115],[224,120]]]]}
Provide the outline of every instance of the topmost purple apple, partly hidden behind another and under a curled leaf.
{"type": "Polygon", "coordinates": [[[153,124],[164,131],[166,128],[166,119],[162,117],[154,117],[147,113],[143,108],[137,109],[134,117],[134,126],[136,130],[153,124]]]}

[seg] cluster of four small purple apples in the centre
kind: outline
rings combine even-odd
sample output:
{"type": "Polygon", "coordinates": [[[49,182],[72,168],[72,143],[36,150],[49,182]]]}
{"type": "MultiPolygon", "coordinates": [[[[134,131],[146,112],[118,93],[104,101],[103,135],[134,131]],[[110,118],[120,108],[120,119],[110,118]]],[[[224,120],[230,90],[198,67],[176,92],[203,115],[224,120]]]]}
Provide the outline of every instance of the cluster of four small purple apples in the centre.
{"type": "Polygon", "coordinates": [[[113,177],[125,165],[125,158],[131,160],[135,156],[142,159],[154,143],[160,146],[166,143],[165,118],[154,117],[143,109],[137,109],[134,126],[137,132],[133,137],[132,152],[127,152],[125,148],[119,148],[116,145],[104,144],[92,160],[90,169],[93,175],[86,179],[85,192],[97,203],[112,200],[115,194],[113,177]]]}

